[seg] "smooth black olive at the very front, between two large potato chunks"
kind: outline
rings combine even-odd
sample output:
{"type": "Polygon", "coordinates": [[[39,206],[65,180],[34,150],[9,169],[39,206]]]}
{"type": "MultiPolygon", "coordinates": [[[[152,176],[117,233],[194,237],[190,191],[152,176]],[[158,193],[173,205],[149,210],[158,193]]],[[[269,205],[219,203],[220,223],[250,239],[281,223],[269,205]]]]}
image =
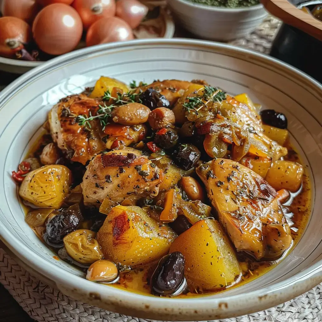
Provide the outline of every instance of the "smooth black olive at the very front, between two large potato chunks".
{"type": "Polygon", "coordinates": [[[180,251],[164,256],[151,277],[152,294],[173,295],[185,283],[184,273],[185,257],[180,251]]]}

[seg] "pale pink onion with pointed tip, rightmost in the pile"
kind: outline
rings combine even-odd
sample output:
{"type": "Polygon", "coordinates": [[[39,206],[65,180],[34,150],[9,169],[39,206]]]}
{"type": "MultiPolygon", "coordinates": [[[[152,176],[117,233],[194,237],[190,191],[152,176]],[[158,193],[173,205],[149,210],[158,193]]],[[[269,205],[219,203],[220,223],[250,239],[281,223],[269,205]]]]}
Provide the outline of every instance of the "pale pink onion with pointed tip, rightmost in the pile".
{"type": "Polygon", "coordinates": [[[132,29],[136,28],[147,15],[149,8],[137,0],[118,0],[116,15],[126,21],[132,29]]]}

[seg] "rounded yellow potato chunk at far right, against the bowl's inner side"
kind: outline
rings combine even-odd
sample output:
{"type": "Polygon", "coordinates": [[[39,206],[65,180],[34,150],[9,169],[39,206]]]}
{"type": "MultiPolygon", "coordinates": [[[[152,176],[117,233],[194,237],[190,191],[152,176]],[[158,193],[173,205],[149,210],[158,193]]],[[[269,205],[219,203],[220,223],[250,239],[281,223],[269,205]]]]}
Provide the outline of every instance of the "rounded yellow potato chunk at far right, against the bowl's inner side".
{"type": "Polygon", "coordinates": [[[303,166],[299,163],[279,160],[272,163],[265,180],[275,190],[287,189],[296,192],[301,186],[303,172],[303,166]]]}

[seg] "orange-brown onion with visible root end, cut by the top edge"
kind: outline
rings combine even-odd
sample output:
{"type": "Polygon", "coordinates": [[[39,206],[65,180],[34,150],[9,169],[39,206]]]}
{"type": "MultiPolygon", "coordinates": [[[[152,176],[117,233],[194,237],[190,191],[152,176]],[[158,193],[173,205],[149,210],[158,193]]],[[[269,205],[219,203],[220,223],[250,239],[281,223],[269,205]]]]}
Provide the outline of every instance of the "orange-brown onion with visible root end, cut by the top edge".
{"type": "Polygon", "coordinates": [[[75,0],[72,6],[81,16],[84,29],[88,29],[95,21],[115,15],[115,0],[75,0]]]}

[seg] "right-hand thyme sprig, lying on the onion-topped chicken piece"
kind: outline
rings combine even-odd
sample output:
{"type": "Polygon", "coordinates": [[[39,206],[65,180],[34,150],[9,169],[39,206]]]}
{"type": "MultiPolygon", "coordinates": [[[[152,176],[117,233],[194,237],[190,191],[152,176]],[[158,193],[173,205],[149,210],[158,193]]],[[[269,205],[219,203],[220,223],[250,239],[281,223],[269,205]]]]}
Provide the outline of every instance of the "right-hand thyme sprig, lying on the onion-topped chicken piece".
{"type": "Polygon", "coordinates": [[[221,103],[226,98],[226,93],[212,86],[205,86],[202,95],[187,97],[183,107],[189,112],[198,115],[198,111],[210,102],[221,103]]]}

